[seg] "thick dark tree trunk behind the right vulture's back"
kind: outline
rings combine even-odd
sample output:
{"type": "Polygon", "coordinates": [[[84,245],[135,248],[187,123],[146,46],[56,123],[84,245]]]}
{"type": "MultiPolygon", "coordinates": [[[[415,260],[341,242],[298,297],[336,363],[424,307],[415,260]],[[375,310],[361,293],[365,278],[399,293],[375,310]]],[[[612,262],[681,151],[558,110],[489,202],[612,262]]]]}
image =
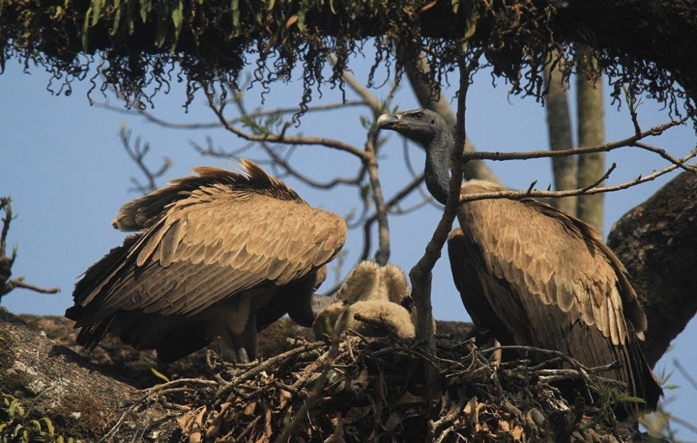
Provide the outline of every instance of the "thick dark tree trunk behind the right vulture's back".
{"type": "Polygon", "coordinates": [[[683,172],[627,212],[608,235],[648,317],[652,366],[697,311],[697,174],[683,172]]]}

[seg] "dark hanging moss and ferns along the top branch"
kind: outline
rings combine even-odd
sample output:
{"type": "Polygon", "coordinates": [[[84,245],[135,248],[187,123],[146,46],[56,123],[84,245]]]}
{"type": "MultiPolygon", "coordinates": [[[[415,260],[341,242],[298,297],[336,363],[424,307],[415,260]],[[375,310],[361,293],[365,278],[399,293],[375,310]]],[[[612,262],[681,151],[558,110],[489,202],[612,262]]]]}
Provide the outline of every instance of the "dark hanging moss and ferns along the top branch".
{"type": "MultiPolygon", "coordinates": [[[[618,24],[604,22],[609,20],[606,17],[588,17],[594,7],[612,9],[608,10],[611,17],[618,8],[641,11],[641,4],[635,4],[641,1],[626,0],[616,6],[596,3],[0,0],[0,68],[8,59],[21,61],[26,69],[32,64],[43,66],[53,76],[49,90],[63,94],[72,92],[72,81],[85,79],[88,72],[94,72],[91,68],[97,68],[98,73],[89,79],[93,84],[90,97],[95,91],[112,87],[129,105],[152,105],[153,97],[169,91],[172,81],[186,82],[188,104],[201,87],[216,82],[236,85],[243,69],[252,70],[254,81],[264,90],[277,81],[289,80],[291,75],[300,75],[304,107],[321,86],[342,88],[341,74],[348,59],[363,54],[367,45],[375,49],[371,84],[383,82],[374,78],[378,66],[386,68],[389,76],[401,76],[401,65],[394,56],[396,46],[401,45],[407,56],[421,50],[427,54],[434,67],[429,81],[440,85],[457,67],[457,54],[467,41],[468,50],[481,50],[485,62],[482,66],[491,66],[493,75],[503,78],[512,93],[540,99],[544,93],[543,65],[551,61],[551,47],[563,46],[568,56],[574,52],[572,42],[576,40],[602,40],[599,68],[611,79],[615,98],[622,94],[623,84],[631,84],[637,93],[648,93],[665,102],[672,114],[694,111],[697,93],[690,98],[686,89],[691,91],[697,84],[696,73],[666,70],[671,60],[661,59],[659,47],[644,49],[640,42],[640,48],[632,54],[622,47],[627,46],[621,40],[624,37],[613,40],[603,34],[611,32],[606,28],[618,24]],[[570,22],[569,17],[579,17],[578,22],[570,22]],[[588,26],[594,23],[597,29],[590,29],[588,26]],[[654,60],[661,63],[648,61],[643,50],[653,51],[654,60]],[[334,65],[327,64],[328,54],[337,59],[334,65]],[[325,78],[328,66],[331,75],[325,78]],[[685,88],[676,86],[676,81],[682,81],[685,88]],[[679,104],[686,98],[690,99],[682,108],[679,104]]],[[[682,11],[689,6],[672,8],[682,11]]],[[[697,14],[680,11],[671,20],[685,28],[685,40],[689,41],[697,29],[697,24],[691,26],[697,14]]],[[[632,31],[635,28],[646,31],[647,25],[642,23],[651,17],[651,11],[631,17],[636,26],[627,30],[629,38],[636,39],[632,31]]],[[[671,33],[670,29],[664,31],[657,30],[671,33]]],[[[675,38],[668,41],[678,45],[673,48],[676,63],[691,59],[689,45],[675,38]]],[[[573,72],[572,68],[569,66],[567,72],[573,72]]]]}

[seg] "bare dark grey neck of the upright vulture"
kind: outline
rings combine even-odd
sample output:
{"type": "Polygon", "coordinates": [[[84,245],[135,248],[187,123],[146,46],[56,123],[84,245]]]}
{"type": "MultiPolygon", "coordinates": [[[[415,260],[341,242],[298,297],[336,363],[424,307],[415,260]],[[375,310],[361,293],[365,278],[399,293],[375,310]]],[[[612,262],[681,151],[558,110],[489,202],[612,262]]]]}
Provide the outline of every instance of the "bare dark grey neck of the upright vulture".
{"type": "Polygon", "coordinates": [[[452,132],[443,125],[426,149],[425,181],[434,199],[445,205],[450,182],[450,154],[454,148],[452,132]]]}

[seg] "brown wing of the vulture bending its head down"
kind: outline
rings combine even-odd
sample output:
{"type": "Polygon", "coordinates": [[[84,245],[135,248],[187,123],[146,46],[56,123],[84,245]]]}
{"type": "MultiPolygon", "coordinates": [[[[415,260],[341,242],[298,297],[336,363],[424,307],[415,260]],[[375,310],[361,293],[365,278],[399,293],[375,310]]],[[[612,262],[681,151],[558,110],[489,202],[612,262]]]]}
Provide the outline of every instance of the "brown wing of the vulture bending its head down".
{"type": "MultiPolygon", "coordinates": [[[[124,311],[193,318],[245,290],[284,286],[330,261],[346,239],[344,220],[310,207],[256,164],[241,164],[248,176],[197,168],[199,177],[124,205],[115,226],[149,227],[86,271],[66,315],[77,326],[124,311]]],[[[268,302],[256,298],[254,309],[268,302]]]]}

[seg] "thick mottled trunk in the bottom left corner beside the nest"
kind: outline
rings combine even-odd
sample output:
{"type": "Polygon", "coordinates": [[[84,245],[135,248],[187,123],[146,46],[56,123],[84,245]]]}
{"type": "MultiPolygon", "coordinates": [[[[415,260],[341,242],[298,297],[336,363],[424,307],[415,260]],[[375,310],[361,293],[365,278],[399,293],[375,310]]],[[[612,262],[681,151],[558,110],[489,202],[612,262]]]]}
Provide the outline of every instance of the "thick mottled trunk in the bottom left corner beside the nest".
{"type": "MultiPolygon", "coordinates": [[[[148,427],[152,423],[171,418],[167,410],[148,402],[129,411],[127,407],[144,396],[142,391],[115,380],[113,374],[98,372],[70,348],[47,339],[1,306],[0,343],[0,393],[22,402],[28,416],[25,424],[45,417],[66,440],[74,437],[90,442],[107,434],[123,414],[112,441],[141,437],[168,441],[178,433],[170,419],[158,426],[157,435],[151,435],[148,427]]],[[[2,407],[0,403],[0,410],[2,407]]]]}

